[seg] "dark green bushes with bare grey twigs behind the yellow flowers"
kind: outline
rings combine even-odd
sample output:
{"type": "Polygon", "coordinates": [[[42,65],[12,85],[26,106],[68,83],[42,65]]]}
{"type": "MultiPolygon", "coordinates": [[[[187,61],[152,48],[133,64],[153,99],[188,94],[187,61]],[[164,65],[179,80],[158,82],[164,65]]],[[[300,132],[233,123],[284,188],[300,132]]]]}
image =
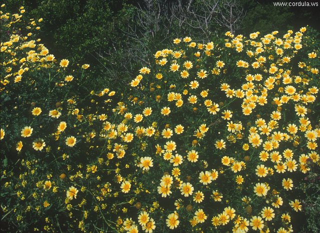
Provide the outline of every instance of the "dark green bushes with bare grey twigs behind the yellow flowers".
{"type": "Polygon", "coordinates": [[[319,29],[316,7],[275,7],[263,0],[6,0],[5,3],[9,12],[24,5],[27,17],[43,18],[38,36],[57,59],[90,63],[97,82],[107,81],[112,86],[127,83],[138,67],[149,65],[151,54],[175,37],[190,36],[206,43],[221,38],[229,27],[242,34],[252,30],[263,34],[298,30],[304,25],[319,29]],[[229,19],[230,23],[226,22],[229,19]]]}

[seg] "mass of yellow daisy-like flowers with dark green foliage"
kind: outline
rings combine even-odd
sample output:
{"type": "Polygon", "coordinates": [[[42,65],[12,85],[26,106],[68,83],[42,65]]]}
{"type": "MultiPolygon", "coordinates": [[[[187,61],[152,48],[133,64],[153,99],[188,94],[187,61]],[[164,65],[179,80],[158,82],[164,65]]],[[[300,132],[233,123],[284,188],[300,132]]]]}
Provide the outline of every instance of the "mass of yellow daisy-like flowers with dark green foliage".
{"type": "Polygon", "coordinates": [[[89,65],[56,61],[30,39],[40,20],[23,28],[22,13],[1,12],[1,207],[10,228],[297,227],[296,188],[319,167],[319,51],[305,27],[177,38],[124,93],[83,93],[89,65]]]}

